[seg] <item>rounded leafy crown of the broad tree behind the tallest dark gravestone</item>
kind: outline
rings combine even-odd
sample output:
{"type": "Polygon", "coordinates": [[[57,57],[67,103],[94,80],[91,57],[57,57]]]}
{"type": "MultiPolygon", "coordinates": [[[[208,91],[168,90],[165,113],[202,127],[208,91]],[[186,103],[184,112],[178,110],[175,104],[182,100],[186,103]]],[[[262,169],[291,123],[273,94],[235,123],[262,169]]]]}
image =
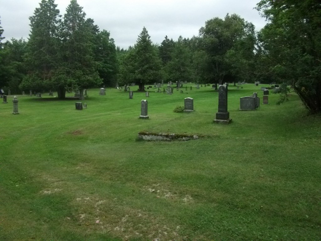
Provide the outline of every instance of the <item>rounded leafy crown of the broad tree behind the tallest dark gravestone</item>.
{"type": "MultiPolygon", "coordinates": [[[[244,51],[248,55],[251,50],[254,50],[254,43],[250,41],[254,39],[253,24],[246,22],[236,14],[227,14],[224,20],[216,17],[206,21],[205,27],[202,27],[199,32],[203,49],[207,54],[204,70],[211,79],[207,82],[215,81],[222,84],[228,75],[240,74],[238,72],[247,67],[245,65],[247,63],[239,61],[240,58],[244,58],[244,55],[236,54],[236,52],[246,47],[244,51]],[[247,46],[242,46],[244,42],[247,46]],[[234,73],[230,71],[233,65],[237,69],[234,73]]],[[[247,61],[250,61],[249,59],[247,58],[247,61]]]]}

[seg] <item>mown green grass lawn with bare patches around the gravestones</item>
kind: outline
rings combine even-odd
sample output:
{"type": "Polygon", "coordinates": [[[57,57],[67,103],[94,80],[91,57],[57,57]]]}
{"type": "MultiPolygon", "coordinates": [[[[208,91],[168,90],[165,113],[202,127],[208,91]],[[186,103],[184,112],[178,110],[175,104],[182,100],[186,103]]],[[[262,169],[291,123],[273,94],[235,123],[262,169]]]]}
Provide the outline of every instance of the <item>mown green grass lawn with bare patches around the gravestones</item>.
{"type": "Polygon", "coordinates": [[[295,94],[263,105],[262,85],[247,84],[229,86],[232,123],[216,124],[218,93],[190,85],[133,99],[90,89],[82,111],[75,99],[18,95],[18,115],[8,96],[0,240],[320,240],[321,116],[295,94]],[[260,108],[239,111],[253,92],[260,108]],[[173,112],[186,97],[195,111],[173,112]],[[205,137],[137,141],[140,131],[205,137]]]}

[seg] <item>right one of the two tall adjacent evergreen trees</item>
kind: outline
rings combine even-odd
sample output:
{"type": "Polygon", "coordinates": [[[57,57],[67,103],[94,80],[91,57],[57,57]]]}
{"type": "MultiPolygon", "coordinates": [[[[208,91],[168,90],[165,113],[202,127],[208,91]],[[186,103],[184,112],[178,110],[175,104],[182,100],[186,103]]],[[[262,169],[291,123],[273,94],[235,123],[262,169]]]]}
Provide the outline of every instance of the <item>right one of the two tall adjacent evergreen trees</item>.
{"type": "Polygon", "coordinates": [[[55,76],[58,96],[65,97],[65,89],[97,86],[102,83],[93,54],[93,28],[86,21],[86,13],[76,0],[67,6],[62,23],[62,62],[55,76]]]}

